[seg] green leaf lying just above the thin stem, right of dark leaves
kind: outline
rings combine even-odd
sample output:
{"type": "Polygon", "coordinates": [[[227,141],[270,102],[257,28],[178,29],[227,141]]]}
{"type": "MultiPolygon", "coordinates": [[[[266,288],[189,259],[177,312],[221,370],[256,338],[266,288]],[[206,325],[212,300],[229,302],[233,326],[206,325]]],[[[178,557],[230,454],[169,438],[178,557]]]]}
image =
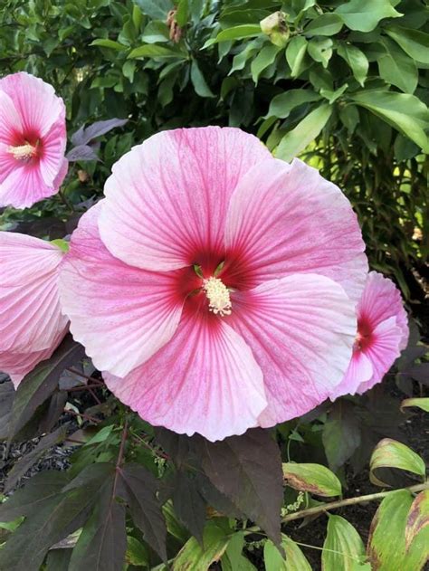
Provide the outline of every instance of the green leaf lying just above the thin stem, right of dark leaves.
{"type": "Polygon", "coordinates": [[[341,495],[341,482],[337,476],[320,464],[283,463],[283,477],[294,490],[326,497],[341,495]]]}

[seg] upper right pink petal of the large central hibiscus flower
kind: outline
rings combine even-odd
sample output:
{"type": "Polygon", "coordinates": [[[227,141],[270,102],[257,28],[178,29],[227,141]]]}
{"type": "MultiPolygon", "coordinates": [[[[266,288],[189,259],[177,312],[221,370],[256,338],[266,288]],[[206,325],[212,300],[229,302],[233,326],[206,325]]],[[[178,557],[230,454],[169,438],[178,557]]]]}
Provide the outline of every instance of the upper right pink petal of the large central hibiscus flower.
{"type": "Polygon", "coordinates": [[[358,300],[367,277],[358,219],[339,188],[298,159],[258,164],[231,199],[225,245],[253,285],[298,272],[338,281],[358,300]]]}

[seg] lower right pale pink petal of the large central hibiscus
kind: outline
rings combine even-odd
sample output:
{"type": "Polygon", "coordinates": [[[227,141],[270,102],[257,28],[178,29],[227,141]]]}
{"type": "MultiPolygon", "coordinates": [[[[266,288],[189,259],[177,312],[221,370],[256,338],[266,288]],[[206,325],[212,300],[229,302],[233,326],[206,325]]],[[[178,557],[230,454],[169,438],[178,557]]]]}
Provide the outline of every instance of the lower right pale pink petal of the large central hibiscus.
{"type": "Polygon", "coordinates": [[[354,304],[334,281],[296,274],[235,292],[227,322],[262,368],[263,427],[307,413],[344,376],[356,335],[354,304]]]}

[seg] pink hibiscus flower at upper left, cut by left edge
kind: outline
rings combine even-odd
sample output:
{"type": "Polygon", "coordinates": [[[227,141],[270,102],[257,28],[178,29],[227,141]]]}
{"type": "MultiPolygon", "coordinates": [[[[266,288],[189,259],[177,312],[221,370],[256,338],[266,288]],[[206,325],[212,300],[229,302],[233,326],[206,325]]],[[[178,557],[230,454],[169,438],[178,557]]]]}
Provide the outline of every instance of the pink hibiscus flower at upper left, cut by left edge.
{"type": "Polygon", "coordinates": [[[52,85],[24,71],[0,80],[0,206],[26,208],[58,192],[65,145],[64,103],[52,85]]]}

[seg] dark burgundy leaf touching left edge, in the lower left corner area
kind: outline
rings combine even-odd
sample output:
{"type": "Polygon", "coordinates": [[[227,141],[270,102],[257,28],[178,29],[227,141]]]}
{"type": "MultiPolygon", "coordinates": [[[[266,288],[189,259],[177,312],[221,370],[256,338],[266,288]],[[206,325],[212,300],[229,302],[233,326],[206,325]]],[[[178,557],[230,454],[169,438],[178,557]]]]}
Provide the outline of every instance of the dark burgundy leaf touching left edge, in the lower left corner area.
{"type": "Polygon", "coordinates": [[[0,504],[0,521],[12,521],[20,516],[31,516],[43,509],[47,500],[58,495],[67,484],[65,471],[43,471],[25,482],[24,488],[0,504]]]}

